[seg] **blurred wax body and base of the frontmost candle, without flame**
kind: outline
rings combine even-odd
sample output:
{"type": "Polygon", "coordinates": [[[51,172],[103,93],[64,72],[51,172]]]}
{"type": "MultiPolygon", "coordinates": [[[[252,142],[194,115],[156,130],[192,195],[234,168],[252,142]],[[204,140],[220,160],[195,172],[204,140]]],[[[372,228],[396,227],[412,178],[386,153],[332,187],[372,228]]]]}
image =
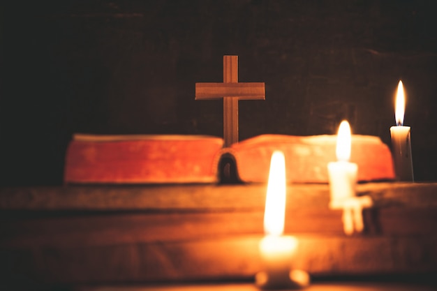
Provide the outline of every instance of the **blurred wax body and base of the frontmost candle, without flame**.
{"type": "Polygon", "coordinates": [[[269,235],[260,241],[260,255],[265,269],[255,275],[258,288],[290,290],[309,285],[309,274],[292,268],[297,244],[297,239],[291,236],[269,235]]]}

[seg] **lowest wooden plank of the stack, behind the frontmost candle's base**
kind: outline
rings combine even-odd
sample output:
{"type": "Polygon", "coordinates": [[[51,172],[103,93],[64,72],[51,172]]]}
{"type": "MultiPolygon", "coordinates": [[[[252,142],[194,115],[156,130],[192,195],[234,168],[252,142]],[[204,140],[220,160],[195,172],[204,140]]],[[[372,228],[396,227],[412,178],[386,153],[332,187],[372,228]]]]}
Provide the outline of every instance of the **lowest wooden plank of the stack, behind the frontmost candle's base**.
{"type": "MultiPolygon", "coordinates": [[[[437,271],[436,235],[296,237],[299,247],[292,263],[312,276],[437,271]]],[[[262,269],[258,253],[261,238],[258,235],[87,248],[10,248],[0,251],[0,262],[5,278],[20,275],[50,283],[248,280],[262,269]],[[20,264],[9,265],[12,261],[20,264]]]]}

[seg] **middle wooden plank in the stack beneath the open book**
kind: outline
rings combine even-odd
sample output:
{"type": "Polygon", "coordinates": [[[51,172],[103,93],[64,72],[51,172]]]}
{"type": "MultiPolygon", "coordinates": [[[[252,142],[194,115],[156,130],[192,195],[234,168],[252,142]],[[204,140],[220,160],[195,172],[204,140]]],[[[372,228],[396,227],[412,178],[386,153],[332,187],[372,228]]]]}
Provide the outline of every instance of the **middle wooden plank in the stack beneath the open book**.
{"type": "MultiPolygon", "coordinates": [[[[330,209],[288,209],[287,234],[343,236],[342,212],[330,209]]],[[[263,234],[263,211],[225,212],[6,212],[0,216],[0,247],[71,247],[135,244],[153,241],[210,239],[263,234]]],[[[435,209],[387,207],[365,209],[368,236],[433,235],[437,229],[435,209]]]]}

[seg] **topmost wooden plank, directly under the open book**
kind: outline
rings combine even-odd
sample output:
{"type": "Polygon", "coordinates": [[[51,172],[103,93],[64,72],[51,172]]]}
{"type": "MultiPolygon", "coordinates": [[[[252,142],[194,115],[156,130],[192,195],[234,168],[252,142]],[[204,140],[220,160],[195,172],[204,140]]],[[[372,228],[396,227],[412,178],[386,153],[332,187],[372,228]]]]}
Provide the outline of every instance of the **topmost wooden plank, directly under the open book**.
{"type": "MultiPolygon", "coordinates": [[[[195,210],[264,209],[267,185],[135,185],[0,188],[3,210],[195,210]]],[[[376,207],[437,207],[437,183],[358,184],[359,195],[370,195],[376,207]]],[[[287,207],[325,208],[327,184],[290,184],[287,207]]]]}

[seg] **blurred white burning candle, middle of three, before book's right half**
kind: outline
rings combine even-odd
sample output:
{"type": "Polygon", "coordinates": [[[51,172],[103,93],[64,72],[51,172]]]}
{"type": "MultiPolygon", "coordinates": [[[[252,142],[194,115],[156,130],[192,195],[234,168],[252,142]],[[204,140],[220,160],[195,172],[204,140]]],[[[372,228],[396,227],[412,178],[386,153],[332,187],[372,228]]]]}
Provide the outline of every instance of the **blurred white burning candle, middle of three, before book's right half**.
{"type": "Polygon", "coordinates": [[[343,209],[349,197],[355,197],[358,165],[350,163],[350,126],[348,121],[341,121],[336,143],[336,162],[328,163],[329,190],[331,209],[343,209]]]}

